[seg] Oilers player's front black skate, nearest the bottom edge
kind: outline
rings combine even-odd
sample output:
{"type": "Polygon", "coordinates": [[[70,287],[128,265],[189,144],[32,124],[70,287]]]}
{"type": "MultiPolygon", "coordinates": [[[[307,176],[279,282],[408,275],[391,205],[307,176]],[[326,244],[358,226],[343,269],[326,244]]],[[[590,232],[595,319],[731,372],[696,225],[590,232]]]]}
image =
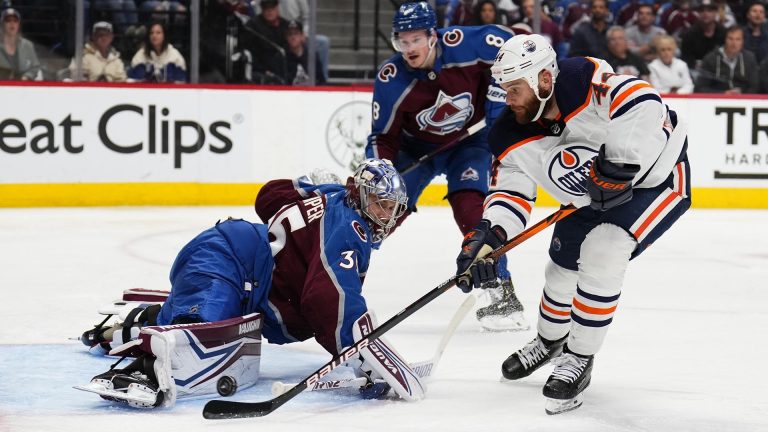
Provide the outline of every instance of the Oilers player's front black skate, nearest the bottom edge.
{"type": "Polygon", "coordinates": [[[563,354],[552,361],[555,370],[544,384],[544,396],[547,398],[547,414],[560,414],[575,410],[584,402],[583,391],[592,378],[592,365],[595,356],[574,354],[565,347],[563,354]]]}

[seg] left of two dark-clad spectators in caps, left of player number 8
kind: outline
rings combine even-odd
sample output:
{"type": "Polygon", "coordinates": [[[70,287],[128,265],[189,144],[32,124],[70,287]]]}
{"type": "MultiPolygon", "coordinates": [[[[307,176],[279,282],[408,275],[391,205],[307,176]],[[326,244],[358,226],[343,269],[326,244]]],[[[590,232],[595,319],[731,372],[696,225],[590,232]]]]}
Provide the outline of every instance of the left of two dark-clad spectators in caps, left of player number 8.
{"type": "Polygon", "coordinates": [[[278,0],[261,0],[261,13],[245,24],[243,46],[251,50],[254,70],[263,83],[285,83],[288,21],[280,16],[278,0]]]}

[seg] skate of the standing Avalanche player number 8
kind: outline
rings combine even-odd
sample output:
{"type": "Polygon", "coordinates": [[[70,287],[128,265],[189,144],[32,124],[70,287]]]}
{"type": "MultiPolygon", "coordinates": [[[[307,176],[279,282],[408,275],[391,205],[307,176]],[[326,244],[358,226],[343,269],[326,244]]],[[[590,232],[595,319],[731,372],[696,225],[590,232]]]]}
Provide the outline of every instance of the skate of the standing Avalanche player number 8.
{"type": "Polygon", "coordinates": [[[523,304],[515,295],[512,280],[496,279],[482,285],[490,304],[477,310],[477,320],[489,331],[528,330],[530,325],[523,315],[523,304]]]}

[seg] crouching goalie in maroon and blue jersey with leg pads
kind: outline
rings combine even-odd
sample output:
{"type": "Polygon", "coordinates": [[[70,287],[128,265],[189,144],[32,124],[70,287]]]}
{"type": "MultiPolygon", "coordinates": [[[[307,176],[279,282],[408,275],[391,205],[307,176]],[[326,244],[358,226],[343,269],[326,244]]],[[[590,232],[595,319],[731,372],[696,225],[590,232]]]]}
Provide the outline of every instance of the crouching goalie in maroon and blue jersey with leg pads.
{"type": "MultiPolygon", "coordinates": [[[[176,257],[162,306],[139,301],[121,324],[84,334],[86,344],[136,360],[78,388],[136,407],[171,406],[178,397],[253,385],[262,335],[277,344],[315,338],[338,355],[375,326],[362,283],[371,251],[406,202],[400,175],[378,159],[363,161],[346,185],[306,177],[267,183],[256,212],[268,224],[217,223],[176,257]]],[[[424,395],[386,341],[371,348],[350,364],[378,381],[374,396],[389,386],[407,400],[424,395]]]]}

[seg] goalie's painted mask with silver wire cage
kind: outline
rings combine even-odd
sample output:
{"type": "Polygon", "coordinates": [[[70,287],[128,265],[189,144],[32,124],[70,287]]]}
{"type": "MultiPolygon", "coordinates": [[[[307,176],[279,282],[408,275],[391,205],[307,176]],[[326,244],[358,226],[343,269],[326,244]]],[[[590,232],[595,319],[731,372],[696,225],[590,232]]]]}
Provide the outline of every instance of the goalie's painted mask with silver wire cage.
{"type": "Polygon", "coordinates": [[[347,180],[349,204],[373,232],[374,243],[384,240],[408,205],[405,183],[386,159],[366,159],[347,180]]]}

